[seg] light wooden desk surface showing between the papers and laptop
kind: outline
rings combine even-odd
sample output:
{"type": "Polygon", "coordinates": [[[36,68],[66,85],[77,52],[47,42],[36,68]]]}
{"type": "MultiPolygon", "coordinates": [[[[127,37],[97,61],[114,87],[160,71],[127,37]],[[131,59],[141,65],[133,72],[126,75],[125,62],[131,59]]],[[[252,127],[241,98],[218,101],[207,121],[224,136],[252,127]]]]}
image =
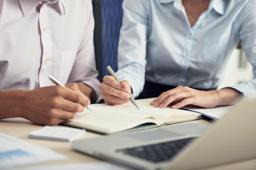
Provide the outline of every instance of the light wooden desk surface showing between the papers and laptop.
{"type": "MultiPolygon", "coordinates": [[[[200,122],[204,124],[210,124],[207,120],[195,120],[194,122],[200,122]]],[[[62,125],[58,125],[62,126],[62,125]]],[[[171,125],[168,125],[171,126],[171,125]]],[[[43,126],[32,124],[28,120],[22,118],[8,118],[0,120],[0,131],[7,135],[11,135],[13,137],[17,137],[26,142],[30,142],[33,144],[37,144],[39,146],[44,146],[51,150],[54,150],[63,155],[67,155],[67,159],[59,160],[59,161],[48,161],[45,163],[37,163],[29,166],[38,166],[38,165],[54,165],[54,164],[63,164],[63,163],[86,163],[86,162],[99,162],[101,160],[90,157],[88,155],[83,155],[78,153],[71,148],[70,142],[59,142],[52,140],[42,140],[42,139],[30,139],[28,138],[29,132],[41,129],[43,126]]],[[[67,127],[67,126],[65,126],[67,127]]],[[[86,131],[86,133],[79,137],[78,139],[85,139],[91,137],[100,136],[98,133],[93,133],[90,131],[86,131]]],[[[28,166],[28,167],[29,167],[28,166]]],[[[225,165],[221,167],[211,168],[211,170],[256,170],[256,159],[243,161],[239,163],[234,163],[231,165],[225,165]]]]}

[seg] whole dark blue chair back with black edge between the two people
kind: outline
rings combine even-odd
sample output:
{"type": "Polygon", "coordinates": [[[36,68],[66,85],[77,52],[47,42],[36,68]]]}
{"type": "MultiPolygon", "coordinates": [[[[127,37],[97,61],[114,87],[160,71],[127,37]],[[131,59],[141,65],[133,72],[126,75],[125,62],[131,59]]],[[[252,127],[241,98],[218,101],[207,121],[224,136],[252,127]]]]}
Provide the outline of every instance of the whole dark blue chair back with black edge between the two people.
{"type": "Polygon", "coordinates": [[[95,20],[94,46],[99,81],[110,75],[108,65],[117,71],[117,46],[122,24],[123,0],[92,0],[95,20]]]}

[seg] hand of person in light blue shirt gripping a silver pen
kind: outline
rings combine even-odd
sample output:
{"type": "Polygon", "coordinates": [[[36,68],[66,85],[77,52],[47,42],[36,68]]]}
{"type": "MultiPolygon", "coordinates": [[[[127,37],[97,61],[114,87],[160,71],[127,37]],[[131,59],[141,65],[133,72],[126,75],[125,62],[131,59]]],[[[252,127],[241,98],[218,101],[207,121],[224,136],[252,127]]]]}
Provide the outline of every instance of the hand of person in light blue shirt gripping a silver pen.
{"type": "Polygon", "coordinates": [[[121,105],[130,101],[131,87],[127,80],[119,83],[113,76],[104,76],[99,88],[101,89],[101,98],[107,105],[121,105]]]}

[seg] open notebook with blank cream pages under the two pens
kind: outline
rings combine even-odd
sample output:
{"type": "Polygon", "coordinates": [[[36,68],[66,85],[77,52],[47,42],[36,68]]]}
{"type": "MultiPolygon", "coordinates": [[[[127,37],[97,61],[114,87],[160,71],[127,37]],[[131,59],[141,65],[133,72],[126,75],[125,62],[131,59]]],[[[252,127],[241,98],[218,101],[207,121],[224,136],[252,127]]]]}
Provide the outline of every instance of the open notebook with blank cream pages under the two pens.
{"type": "Polygon", "coordinates": [[[93,111],[85,109],[82,113],[78,113],[75,118],[63,124],[110,134],[128,129],[129,131],[136,131],[203,118],[201,114],[193,111],[171,109],[170,107],[153,107],[149,104],[152,100],[153,98],[137,100],[140,110],[134,107],[131,102],[115,106],[105,103],[92,104],[90,107],[93,111]]]}

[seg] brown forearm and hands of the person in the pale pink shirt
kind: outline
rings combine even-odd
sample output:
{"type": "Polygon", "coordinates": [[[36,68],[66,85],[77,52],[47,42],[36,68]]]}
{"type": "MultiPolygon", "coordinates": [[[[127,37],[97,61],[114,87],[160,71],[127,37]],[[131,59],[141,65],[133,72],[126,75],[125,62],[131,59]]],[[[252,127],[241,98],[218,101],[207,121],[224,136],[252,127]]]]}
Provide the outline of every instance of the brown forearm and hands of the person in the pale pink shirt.
{"type": "Polygon", "coordinates": [[[82,83],[34,90],[0,91],[0,119],[25,118],[35,124],[57,125],[90,105],[92,89],[82,83]]]}

